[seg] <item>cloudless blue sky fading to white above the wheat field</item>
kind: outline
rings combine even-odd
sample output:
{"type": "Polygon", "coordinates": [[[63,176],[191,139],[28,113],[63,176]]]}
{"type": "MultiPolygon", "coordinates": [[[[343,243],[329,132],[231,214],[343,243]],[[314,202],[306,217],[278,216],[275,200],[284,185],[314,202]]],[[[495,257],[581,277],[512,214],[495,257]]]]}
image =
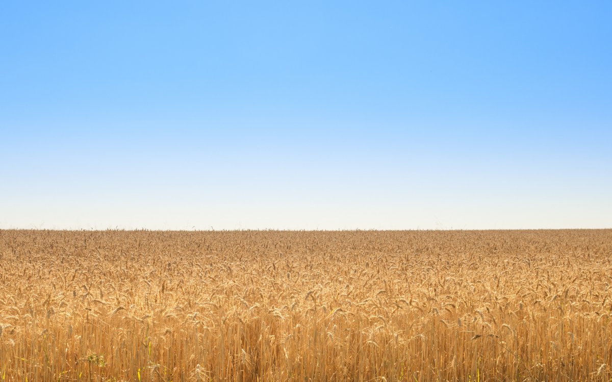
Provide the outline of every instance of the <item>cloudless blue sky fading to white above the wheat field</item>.
{"type": "Polygon", "coordinates": [[[0,228],[612,228],[610,1],[2,1],[0,228]]]}

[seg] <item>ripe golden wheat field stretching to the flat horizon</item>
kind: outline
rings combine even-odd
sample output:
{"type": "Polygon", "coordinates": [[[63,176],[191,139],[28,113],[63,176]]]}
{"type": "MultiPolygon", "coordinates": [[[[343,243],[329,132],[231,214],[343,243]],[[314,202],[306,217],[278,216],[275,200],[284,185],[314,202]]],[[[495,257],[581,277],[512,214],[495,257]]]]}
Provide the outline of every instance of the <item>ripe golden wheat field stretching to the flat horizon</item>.
{"type": "Polygon", "coordinates": [[[610,381],[612,230],[0,231],[4,381],[610,381]]]}

